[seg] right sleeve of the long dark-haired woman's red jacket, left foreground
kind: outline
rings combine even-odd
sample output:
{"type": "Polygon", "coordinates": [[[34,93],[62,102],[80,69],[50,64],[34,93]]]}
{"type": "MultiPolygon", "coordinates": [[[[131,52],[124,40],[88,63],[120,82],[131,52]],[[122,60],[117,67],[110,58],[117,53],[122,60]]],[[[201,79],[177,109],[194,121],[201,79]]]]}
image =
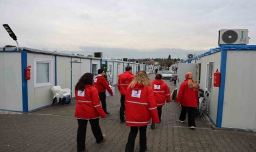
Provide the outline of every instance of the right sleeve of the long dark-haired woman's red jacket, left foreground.
{"type": "Polygon", "coordinates": [[[99,116],[101,116],[102,118],[106,117],[106,113],[103,111],[101,107],[101,103],[99,100],[99,93],[97,89],[93,89],[91,91],[91,103],[93,103],[93,107],[96,109],[99,116]]]}

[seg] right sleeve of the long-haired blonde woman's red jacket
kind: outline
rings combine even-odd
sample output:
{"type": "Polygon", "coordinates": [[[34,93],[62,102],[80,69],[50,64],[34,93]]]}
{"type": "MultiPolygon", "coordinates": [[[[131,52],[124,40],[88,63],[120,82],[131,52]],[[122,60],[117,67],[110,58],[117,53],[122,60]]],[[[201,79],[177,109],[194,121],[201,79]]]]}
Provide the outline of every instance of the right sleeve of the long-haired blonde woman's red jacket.
{"type": "Polygon", "coordinates": [[[158,118],[158,113],[157,113],[157,103],[155,102],[154,98],[154,92],[153,89],[148,86],[147,87],[147,100],[148,100],[148,108],[149,108],[149,114],[152,118],[153,123],[158,123],[159,118],[158,118]]]}

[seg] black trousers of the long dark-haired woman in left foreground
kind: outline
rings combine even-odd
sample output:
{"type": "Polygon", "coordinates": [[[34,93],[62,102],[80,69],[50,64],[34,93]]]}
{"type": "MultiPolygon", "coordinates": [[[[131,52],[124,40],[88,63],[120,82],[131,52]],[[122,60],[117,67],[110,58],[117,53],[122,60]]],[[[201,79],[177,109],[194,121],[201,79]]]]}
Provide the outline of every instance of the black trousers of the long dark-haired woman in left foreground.
{"type": "MultiPolygon", "coordinates": [[[[77,119],[78,129],[76,136],[77,143],[77,151],[85,150],[85,137],[86,137],[86,128],[88,120],[77,119]]],[[[93,131],[93,135],[96,138],[96,142],[99,143],[103,140],[103,136],[101,133],[101,127],[99,126],[99,119],[90,119],[91,131],[93,131]]]]}

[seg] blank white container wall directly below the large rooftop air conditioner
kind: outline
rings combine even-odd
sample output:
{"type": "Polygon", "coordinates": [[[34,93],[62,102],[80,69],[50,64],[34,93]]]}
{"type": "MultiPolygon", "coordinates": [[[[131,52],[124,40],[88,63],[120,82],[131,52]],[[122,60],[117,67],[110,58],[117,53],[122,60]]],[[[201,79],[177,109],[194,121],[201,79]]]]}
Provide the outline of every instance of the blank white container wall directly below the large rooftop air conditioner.
{"type": "Polygon", "coordinates": [[[228,50],[222,127],[256,130],[256,51],[228,50]]]}

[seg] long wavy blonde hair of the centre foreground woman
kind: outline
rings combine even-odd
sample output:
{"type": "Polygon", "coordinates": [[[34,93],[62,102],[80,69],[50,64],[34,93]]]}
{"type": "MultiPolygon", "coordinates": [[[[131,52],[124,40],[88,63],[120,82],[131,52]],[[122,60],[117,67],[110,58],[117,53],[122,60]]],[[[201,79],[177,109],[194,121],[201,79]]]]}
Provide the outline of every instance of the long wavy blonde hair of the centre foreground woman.
{"type": "Polygon", "coordinates": [[[133,88],[137,83],[143,84],[144,88],[146,88],[146,86],[151,86],[150,80],[145,73],[146,72],[144,71],[139,71],[138,74],[135,75],[135,78],[133,78],[133,80],[130,82],[128,87],[133,88]]]}

